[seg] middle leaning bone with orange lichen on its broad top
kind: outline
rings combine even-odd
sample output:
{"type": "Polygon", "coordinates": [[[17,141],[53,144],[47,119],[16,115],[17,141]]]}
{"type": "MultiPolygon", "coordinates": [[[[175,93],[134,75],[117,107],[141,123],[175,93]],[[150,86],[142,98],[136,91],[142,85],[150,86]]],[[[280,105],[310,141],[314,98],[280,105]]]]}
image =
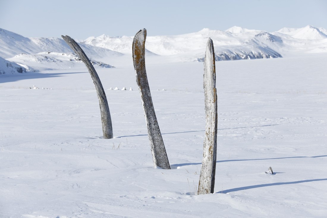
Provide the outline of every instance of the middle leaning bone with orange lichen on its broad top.
{"type": "Polygon", "coordinates": [[[133,39],[133,64],[136,73],[136,82],[139,86],[142,105],[146,118],[147,133],[150,140],[153,163],[163,169],[170,169],[166,149],[160,133],[157,117],[154,111],[149,83],[145,68],[145,41],[146,29],[136,33],[133,39]]]}

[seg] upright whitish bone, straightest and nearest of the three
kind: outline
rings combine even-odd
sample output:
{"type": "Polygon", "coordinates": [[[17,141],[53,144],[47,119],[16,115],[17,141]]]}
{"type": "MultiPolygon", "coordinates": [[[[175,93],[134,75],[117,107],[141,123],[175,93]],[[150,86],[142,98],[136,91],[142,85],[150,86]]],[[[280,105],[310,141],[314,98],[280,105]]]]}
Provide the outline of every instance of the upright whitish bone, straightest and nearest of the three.
{"type": "Polygon", "coordinates": [[[198,194],[214,193],[217,156],[217,92],[214,44],[209,38],[204,58],[204,103],[206,128],[198,194]]]}

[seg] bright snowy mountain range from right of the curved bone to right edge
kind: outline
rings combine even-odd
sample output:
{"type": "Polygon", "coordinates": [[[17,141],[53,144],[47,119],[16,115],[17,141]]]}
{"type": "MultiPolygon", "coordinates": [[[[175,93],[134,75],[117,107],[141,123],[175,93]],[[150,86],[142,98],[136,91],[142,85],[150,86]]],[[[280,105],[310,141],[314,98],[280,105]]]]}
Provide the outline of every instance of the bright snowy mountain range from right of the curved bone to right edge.
{"type": "MultiPolygon", "coordinates": [[[[175,36],[147,36],[146,49],[158,55],[181,55],[177,59],[183,61],[201,61],[210,37],[215,45],[217,61],[278,58],[298,51],[327,52],[326,33],[324,28],[312,26],[283,28],[273,33],[236,26],[225,31],[204,28],[195,33],[175,36]]],[[[101,35],[89,37],[82,44],[130,54],[132,40],[132,36],[101,35]]]]}

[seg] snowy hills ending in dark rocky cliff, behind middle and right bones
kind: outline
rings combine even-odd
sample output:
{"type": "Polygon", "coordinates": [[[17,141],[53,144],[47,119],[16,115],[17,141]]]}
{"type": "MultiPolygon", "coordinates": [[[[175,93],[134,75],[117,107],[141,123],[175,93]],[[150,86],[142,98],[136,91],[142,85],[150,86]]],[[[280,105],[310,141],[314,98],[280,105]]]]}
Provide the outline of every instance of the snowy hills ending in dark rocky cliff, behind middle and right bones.
{"type": "MultiPolygon", "coordinates": [[[[232,27],[226,31],[204,28],[196,33],[176,36],[148,36],[146,49],[154,54],[165,56],[185,54],[188,58],[182,58],[183,61],[201,61],[209,37],[214,41],[217,61],[282,57],[278,51],[268,46],[268,44],[281,43],[279,37],[241,27],[232,27]],[[256,36],[260,33],[266,36],[256,36]],[[257,42],[258,40],[261,41],[257,42]]],[[[90,37],[82,43],[130,54],[132,41],[133,37],[101,35],[90,37]]]]}

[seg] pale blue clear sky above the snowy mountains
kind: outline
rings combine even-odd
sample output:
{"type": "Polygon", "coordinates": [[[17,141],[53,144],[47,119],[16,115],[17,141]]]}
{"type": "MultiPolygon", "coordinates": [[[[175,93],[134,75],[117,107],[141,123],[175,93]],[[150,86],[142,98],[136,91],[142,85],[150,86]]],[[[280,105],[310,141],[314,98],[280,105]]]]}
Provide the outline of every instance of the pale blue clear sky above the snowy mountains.
{"type": "Polygon", "coordinates": [[[326,0],[0,0],[0,28],[25,37],[177,35],[232,26],[327,29],[326,0]]]}

